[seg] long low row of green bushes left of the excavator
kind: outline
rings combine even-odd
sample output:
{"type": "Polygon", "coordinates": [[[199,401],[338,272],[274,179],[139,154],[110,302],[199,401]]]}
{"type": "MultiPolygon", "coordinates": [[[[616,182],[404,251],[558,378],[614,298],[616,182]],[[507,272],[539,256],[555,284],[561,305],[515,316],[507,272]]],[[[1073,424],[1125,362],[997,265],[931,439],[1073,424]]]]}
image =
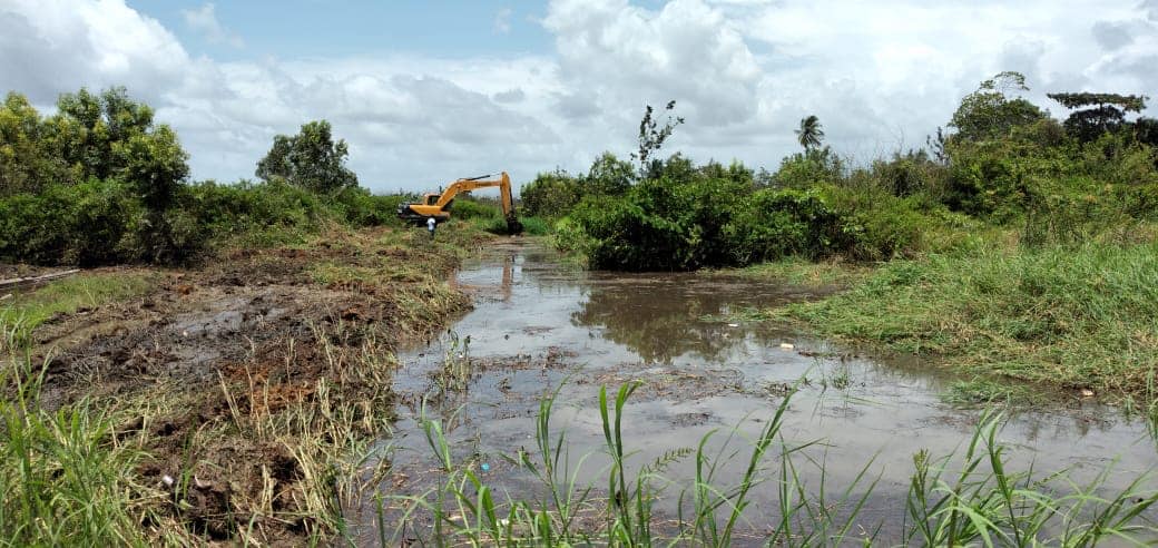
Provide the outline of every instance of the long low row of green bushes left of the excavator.
{"type": "Polygon", "coordinates": [[[248,244],[300,239],[327,222],[394,225],[403,199],[359,188],[327,198],[280,180],[206,181],[178,185],[173,206],[157,220],[134,185],[97,180],[53,185],[38,195],[0,198],[0,261],[181,262],[237,239],[248,244]],[[46,226],[53,229],[41,228],[46,226]]]}

